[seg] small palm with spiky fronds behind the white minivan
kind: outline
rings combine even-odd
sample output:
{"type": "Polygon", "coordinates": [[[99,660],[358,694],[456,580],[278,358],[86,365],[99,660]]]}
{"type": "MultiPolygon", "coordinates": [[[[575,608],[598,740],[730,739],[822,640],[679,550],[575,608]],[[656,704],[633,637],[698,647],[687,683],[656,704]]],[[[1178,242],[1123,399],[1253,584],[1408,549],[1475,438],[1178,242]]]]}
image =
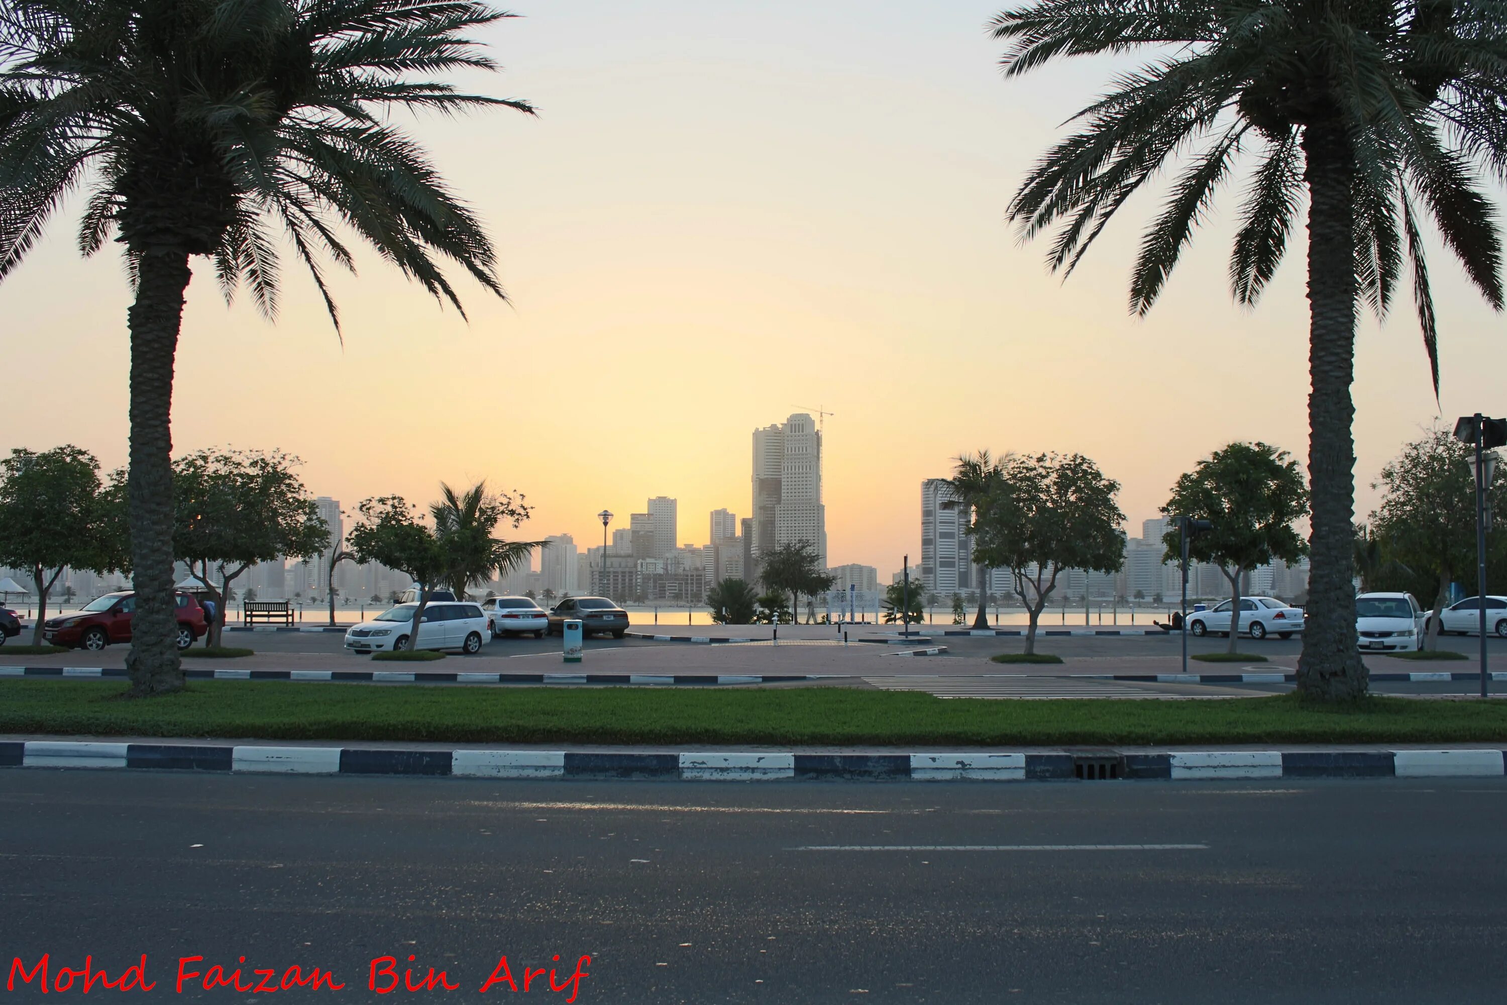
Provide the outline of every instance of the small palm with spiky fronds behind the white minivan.
{"type": "MultiPolygon", "coordinates": [[[[455,600],[466,600],[472,586],[490,582],[494,576],[506,576],[529,562],[533,548],[543,548],[543,541],[503,541],[493,530],[503,520],[517,527],[527,520],[529,508],[511,496],[494,496],[487,491],[487,482],[476,482],[464,494],[440,482],[440,500],[429,503],[434,518],[434,536],[445,551],[446,586],[455,600]]],[[[546,597],[555,591],[544,591],[546,597]]]]}

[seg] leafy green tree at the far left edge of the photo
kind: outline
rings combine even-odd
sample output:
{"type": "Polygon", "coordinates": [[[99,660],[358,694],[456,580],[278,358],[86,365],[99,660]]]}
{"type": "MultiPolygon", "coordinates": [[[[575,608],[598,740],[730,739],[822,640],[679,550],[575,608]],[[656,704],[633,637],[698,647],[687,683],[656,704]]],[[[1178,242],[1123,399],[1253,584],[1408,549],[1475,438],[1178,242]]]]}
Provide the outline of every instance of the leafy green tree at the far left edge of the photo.
{"type": "Polygon", "coordinates": [[[99,461],[72,444],[0,461],[0,565],[36,586],[32,645],[42,645],[47,597],[65,568],[110,571],[98,536],[99,461]]]}

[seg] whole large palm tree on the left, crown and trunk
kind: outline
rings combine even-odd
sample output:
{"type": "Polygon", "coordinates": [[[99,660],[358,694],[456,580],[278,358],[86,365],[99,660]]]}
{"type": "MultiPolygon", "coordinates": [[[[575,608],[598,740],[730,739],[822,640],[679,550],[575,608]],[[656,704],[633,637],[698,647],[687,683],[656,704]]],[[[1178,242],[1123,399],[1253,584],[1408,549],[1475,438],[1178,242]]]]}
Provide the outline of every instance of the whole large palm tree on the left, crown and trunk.
{"type": "Polygon", "coordinates": [[[0,3],[0,279],[87,184],[80,250],[113,234],[136,292],[133,693],[182,687],[169,411],[190,259],[211,258],[226,298],[244,283],[271,318],[280,228],[336,331],[321,262],[353,267],[342,225],[458,310],[437,258],[502,297],[481,223],[386,119],[393,108],[529,111],[423,78],[494,69],[466,33],[505,17],[472,0],[0,3]]]}

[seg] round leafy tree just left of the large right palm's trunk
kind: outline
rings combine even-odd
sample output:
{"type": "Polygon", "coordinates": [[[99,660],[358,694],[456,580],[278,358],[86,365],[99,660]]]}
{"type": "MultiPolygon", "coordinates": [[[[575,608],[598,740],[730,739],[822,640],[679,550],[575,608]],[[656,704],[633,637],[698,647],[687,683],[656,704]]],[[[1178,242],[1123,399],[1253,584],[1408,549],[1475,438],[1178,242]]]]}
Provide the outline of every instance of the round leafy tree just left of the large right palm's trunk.
{"type": "MultiPolygon", "coordinates": [[[[1308,512],[1308,490],[1298,461],[1264,443],[1231,443],[1180,475],[1162,512],[1213,524],[1189,541],[1188,554],[1191,561],[1218,565],[1230,582],[1230,652],[1234,652],[1240,636],[1240,574],[1273,561],[1291,565],[1308,551],[1293,529],[1293,521],[1308,512]]],[[[1162,542],[1168,559],[1181,559],[1177,530],[1169,530],[1162,542]]]]}

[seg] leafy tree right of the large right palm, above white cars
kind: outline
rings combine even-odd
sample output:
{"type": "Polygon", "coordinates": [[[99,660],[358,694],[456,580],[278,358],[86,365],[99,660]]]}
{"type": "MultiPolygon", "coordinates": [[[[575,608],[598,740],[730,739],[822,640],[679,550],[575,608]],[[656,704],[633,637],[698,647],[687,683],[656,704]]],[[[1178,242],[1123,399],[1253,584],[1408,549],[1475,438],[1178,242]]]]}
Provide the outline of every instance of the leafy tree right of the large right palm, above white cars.
{"type": "MultiPolygon", "coordinates": [[[[1460,443],[1448,431],[1430,429],[1403,448],[1382,469],[1380,506],[1371,514],[1371,542],[1379,554],[1377,567],[1395,562],[1418,576],[1430,577],[1433,595],[1429,618],[1427,648],[1439,639],[1439,612],[1444,610],[1450,583],[1456,577],[1474,580],[1475,570],[1475,476],[1466,458],[1475,448],[1460,443]]],[[[1507,512],[1507,479],[1492,479],[1486,502],[1492,512],[1507,512]]],[[[1370,544],[1370,542],[1368,542],[1370,544]]],[[[1486,536],[1487,556],[1502,559],[1501,535],[1486,536]]],[[[1377,579],[1380,568],[1368,570],[1377,579]]],[[[1474,591],[1472,591],[1474,592],[1474,591]]]]}

